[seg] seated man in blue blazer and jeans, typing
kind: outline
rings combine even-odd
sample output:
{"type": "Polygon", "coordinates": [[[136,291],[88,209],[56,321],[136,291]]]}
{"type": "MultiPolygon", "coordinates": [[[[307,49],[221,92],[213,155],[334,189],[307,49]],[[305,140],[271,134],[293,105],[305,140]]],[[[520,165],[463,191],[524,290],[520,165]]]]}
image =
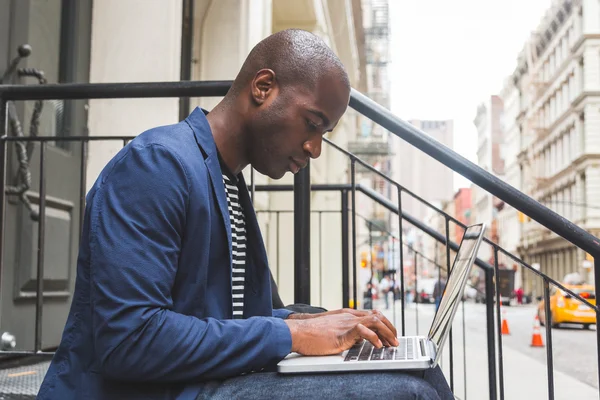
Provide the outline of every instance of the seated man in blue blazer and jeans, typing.
{"type": "Polygon", "coordinates": [[[349,93],[343,65],[320,39],[280,32],[252,50],[210,114],[196,109],[117,154],[87,196],[73,304],[39,398],[450,398],[439,369],[265,372],[290,351],[397,343],[378,312],[272,309],[241,174],[251,164],[278,179],[319,157],[349,93]]]}

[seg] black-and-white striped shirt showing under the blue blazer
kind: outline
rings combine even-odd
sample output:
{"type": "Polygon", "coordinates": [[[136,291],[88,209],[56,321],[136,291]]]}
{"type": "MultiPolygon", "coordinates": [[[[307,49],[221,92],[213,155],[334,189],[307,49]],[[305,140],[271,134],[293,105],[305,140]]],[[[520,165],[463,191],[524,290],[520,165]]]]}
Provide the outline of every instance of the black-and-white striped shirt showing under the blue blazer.
{"type": "Polygon", "coordinates": [[[244,284],[246,276],[246,223],[244,211],[240,205],[239,190],[235,183],[223,174],[229,221],[231,222],[231,252],[233,260],[232,296],[233,318],[244,317],[244,284]]]}

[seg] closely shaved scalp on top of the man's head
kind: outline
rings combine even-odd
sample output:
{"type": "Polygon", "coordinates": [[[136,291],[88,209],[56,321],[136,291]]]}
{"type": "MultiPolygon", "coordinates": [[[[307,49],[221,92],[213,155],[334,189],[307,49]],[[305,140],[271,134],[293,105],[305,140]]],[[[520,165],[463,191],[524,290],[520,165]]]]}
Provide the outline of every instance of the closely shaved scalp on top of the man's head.
{"type": "Polygon", "coordinates": [[[324,77],[338,77],[350,89],[344,65],[318,36],[300,29],[277,32],[259,42],[236,77],[232,94],[239,94],[261,69],[271,69],[282,90],[297,85],[314,88],[324,77]]]}

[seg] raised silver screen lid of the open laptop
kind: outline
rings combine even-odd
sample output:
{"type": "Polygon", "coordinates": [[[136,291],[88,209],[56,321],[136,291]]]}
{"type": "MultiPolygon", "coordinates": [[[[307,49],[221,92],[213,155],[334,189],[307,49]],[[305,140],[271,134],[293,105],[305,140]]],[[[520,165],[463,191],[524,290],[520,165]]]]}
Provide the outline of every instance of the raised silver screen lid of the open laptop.
{"type": "Polygon", "coordinates": [[[440,306],[435,313],[429,330],[428,338],[436,347],[433,366],[437,365],[442,354],[442,346],[448,338],[450,328],[452,328],[452,320],[465,291],[467,279],[477,258],[484,232],[484,224],[471,225],[465,230],[460,242],[454,264],[448,276],[448,282],[443,290],[440,306]]]}

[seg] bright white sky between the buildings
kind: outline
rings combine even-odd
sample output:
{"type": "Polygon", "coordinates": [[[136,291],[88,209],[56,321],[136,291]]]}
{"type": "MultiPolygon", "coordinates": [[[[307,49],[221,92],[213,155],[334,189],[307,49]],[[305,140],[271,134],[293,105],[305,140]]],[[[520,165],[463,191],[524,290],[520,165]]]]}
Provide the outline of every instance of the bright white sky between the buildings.
{"type": "MultiPolygon", "coordinates": [[[[477,162],[477,106],[499,94],[550,0],[390,0],[391,110],[454,120],[454,150],[477,162]]],[[[454,187],[470,182],[455,174],[454,187]]]]}

